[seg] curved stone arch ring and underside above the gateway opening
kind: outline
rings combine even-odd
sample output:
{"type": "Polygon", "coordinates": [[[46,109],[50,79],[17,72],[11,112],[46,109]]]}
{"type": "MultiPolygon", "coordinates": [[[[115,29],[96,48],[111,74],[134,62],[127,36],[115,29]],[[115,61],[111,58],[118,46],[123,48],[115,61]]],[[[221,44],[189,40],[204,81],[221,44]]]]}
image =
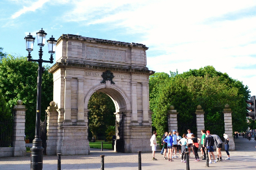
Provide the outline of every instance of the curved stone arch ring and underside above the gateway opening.
{"type": "MultiPolygon", "coordinates": [[[[107,82],[108,83],[108,82],[107,82]]],[[[120,87],[115,84],[110,84],[107,88],[107,84],[97,84],[96,86],[92,87],[85,95],[85,109],[88,109],[88,102],[90,96],[96,91],[106,93],[115,104],[116,112],[125,112],[127,110],[131,110],[131,102],[125,93],[120,87]]]]}

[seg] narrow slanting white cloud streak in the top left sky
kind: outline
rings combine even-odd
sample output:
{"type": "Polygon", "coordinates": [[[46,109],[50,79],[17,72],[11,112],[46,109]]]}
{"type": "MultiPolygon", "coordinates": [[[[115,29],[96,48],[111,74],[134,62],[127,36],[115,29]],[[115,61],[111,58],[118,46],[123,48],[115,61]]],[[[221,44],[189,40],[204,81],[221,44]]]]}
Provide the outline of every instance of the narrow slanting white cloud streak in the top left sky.
{"type": "Polygon", "coordinates": [[[15,12],[14,14],[12,14],[11,18],[15,19],[17,17],[20,17],[20,15],[25,14],[28,11],[35,11],[38,8],[41,8],[48,1],[50,1],[50,0],[38,0],[37,2],[31,2],[30,6],[23,6],[22,9],[20,9],[17,12],[15,12]]]}

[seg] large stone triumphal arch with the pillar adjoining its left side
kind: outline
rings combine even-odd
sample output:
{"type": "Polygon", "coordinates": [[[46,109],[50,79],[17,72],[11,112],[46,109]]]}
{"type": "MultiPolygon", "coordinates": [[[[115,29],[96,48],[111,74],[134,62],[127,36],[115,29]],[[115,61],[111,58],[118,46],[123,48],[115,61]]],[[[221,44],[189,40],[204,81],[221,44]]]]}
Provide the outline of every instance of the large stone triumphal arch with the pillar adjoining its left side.
{"type": "Polygon", "coordinates": [[[143,44],[63,34],[57,41],[53,100],[48,107],[47,154],[86,155],[88,102],[95,91],[115,104],[118,152],[151,151],[151,112],[143,44]],[[148,147],[145,147],[148,146],[148,147]]]}

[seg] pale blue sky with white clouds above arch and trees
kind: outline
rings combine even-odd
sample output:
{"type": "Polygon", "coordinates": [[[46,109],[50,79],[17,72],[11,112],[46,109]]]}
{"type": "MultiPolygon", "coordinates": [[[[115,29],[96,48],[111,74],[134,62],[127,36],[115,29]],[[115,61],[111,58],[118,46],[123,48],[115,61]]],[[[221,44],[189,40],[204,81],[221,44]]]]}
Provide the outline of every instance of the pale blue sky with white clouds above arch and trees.
{"type": "Polygon", "coordinates": [[[149,47],[150,70],[213,66],[256,95],[256,1],[1,0],[0,6],[0,47],[6,53],[26,56],[25,35],[35,37],[41,28],[47,40],[77,34],[137,42],[149,47]]]}

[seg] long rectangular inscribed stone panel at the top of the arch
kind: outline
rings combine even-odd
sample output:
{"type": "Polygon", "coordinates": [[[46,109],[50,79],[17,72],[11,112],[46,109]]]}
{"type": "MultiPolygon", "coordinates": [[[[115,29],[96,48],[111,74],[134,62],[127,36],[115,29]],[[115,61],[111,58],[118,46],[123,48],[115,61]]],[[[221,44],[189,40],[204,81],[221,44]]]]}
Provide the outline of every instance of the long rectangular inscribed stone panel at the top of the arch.
{"type": "Polygon", "coordinates": [[[111,50],[107,48],[87,47],[86,55],[88,59],[125,62],[125,51],[111,50]]]}

